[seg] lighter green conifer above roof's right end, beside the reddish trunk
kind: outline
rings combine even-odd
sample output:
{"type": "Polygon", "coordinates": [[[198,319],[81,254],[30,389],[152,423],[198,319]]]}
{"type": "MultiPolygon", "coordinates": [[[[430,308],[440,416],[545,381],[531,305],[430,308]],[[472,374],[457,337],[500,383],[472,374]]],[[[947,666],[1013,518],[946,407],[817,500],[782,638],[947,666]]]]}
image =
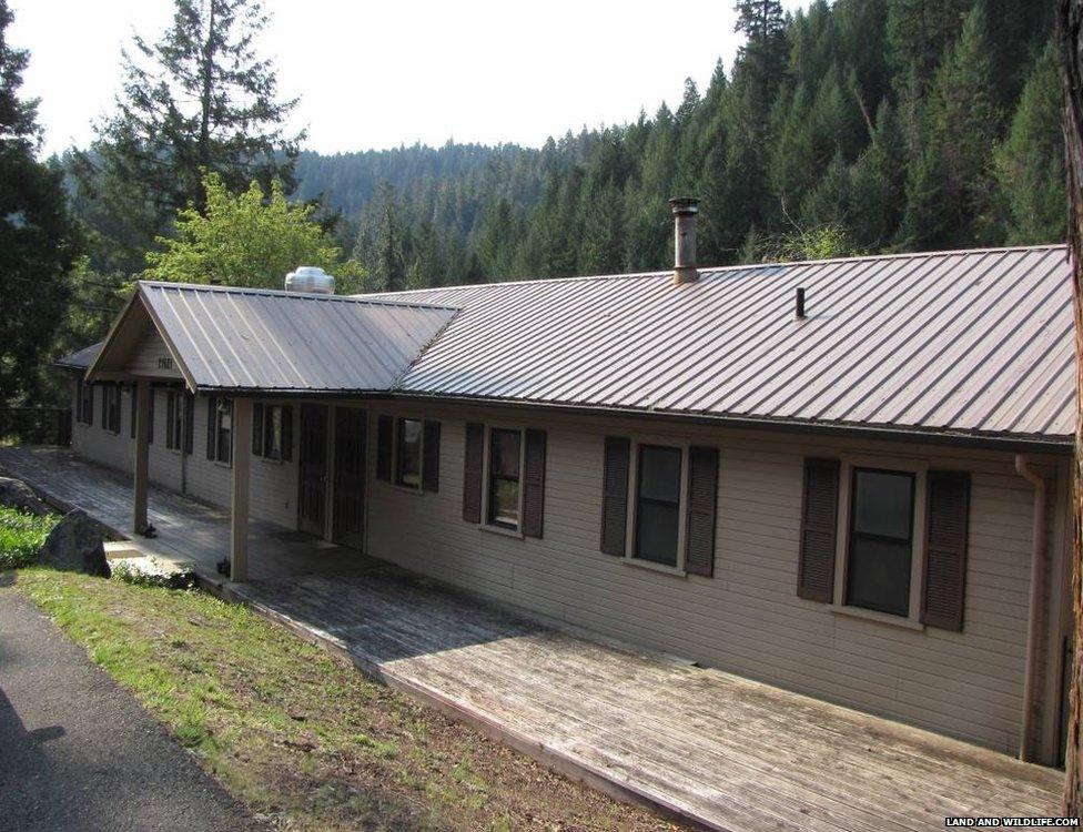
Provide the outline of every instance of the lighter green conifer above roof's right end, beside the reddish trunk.
{"type": "Polygon", "coordinates": [[[996,149],[996,179],[1008,203],[1008,241],[1064,240],[1064,141],[1056,55],[1042,51],[1020,97],[1006,140],[996,149]]]}

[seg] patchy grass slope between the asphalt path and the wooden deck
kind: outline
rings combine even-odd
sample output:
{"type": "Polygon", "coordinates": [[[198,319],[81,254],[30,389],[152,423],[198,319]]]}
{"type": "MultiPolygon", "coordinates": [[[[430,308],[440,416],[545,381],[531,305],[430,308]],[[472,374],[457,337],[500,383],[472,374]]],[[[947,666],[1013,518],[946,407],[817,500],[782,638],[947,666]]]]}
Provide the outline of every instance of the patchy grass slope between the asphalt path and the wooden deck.
{"type": "Polygon", "coordinates": [[[42,568],[44,610],[251,811],[284,830],[659,830],[244,607],[42,568]]]}

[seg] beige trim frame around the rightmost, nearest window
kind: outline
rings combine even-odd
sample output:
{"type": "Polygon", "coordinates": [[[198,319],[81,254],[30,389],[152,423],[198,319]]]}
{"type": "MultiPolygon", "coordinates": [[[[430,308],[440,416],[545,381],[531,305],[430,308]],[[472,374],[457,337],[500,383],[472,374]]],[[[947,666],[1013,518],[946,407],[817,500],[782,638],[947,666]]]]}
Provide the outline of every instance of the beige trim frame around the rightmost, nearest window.
{"type": "Polygon", "coordinates": [[[839,459],[839,517],[834,551],[834,592],[832,612],[853,618],[894,625],[913,630],[924,630],[921,623],[921,587],[925,564],[925,524],[928,510],[929,464],[912,457],[890,457],[870,455],[842,455],[839,459]],[[853,504],[854,468],[872,468],[889,474],[910,474],[913,476],[913,544],[910,551],[910,599],[905,616],[868,609],[847,603],[847,584],[850,564],[850,515],[853,504]]]}

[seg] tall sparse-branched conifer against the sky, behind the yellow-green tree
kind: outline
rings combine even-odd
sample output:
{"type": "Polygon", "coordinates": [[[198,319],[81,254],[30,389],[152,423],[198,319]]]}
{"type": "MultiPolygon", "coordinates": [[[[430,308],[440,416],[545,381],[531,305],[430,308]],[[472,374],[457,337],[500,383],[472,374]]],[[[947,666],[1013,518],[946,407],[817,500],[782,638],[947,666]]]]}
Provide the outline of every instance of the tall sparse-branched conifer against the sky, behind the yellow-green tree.
{"type": "Polygon", "coordinates": [[[123,51],[115,113],[73,160],[107,232],[120,226],[143,247],[176,211],[205,209],[205,171],[234,192],[252,180],[264,189],[279,180],[292,192],[303,139],[283,126],[296,99],[279,100],[274,68],[256,53],[267,22],[259,0],[174,3],[158,42],[136,35],[123,51]]]}

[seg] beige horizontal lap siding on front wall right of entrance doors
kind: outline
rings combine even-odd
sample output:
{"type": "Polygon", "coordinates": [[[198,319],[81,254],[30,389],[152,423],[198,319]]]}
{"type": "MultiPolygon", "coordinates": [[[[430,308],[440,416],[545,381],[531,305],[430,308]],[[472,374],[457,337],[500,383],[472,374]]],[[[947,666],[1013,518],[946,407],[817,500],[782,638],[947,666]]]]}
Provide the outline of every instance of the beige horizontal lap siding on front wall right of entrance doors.
{"type": "Polygon", "coordinates": [[[1032,491],[1010,454],[927,447],[917,456],[898,444],[688,428],[689,440],[720,447],[721,467],[715,577],[682,579],[599,551],[604,438],[636,423],[533,423],[548,432],[545,537],[519,540],[462,519],[465,420],[484,422],[484,410],[383,412],[443,422],[441,488],[415,495],[374,481],[373,555],[608,636],[1015,751],[1032,491]],[[842,453],[971,471],[963,632],[912,631],[797,597],[803,459],[842,453]]]}

